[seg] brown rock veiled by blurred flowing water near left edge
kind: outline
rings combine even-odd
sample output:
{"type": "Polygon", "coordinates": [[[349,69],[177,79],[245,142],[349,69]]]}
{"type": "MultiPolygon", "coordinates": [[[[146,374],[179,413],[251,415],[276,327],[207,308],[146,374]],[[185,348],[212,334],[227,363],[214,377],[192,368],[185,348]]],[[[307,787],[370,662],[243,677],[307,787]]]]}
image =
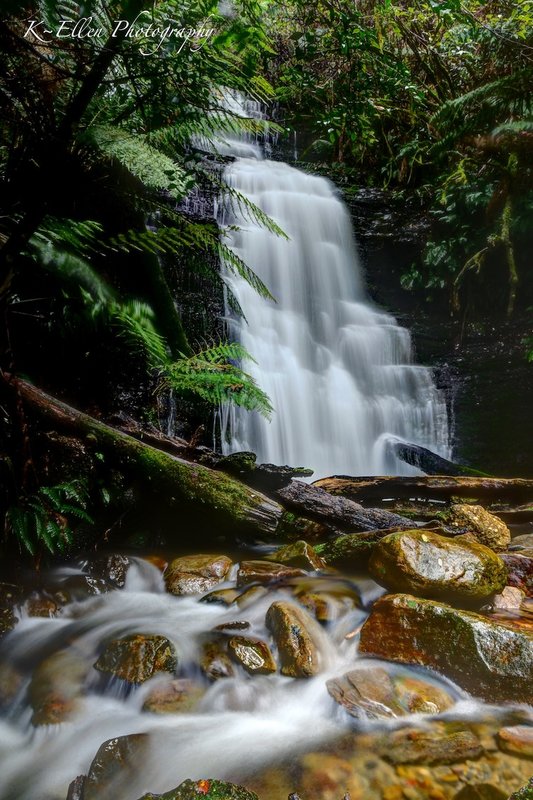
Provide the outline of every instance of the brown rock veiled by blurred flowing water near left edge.
{"type": "Polygon", "coordinates": [[[60,650],[34,670],[28,696],[33,725],[65,722],[78,708],[87,674],[84,660],[72,651],[60,650]]]}

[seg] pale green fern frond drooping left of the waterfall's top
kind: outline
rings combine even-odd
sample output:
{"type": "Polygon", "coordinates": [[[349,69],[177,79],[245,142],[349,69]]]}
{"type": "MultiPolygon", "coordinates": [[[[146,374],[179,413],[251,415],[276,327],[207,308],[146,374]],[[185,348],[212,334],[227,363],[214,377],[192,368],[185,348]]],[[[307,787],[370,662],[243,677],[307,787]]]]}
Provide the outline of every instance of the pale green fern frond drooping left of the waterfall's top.
{"type": "Polygon", "coordinates": [[[166,191],[179,200],[193,180],[173,159],[136,136],[110,125],[88,128],[80,137],[110,161],[116,161],[148,189],[166,191]]]}

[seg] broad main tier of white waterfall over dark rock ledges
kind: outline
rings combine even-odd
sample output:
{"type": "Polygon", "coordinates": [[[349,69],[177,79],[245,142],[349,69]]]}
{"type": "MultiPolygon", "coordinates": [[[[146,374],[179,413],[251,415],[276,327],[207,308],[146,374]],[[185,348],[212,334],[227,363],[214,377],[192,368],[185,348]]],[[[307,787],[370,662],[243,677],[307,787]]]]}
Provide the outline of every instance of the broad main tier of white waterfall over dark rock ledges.
{"type": "Polygon", "coordinates": [[[276,302],[223,267],[243,317],[226,308],[230,336],[256,363],[244,365],[268,394],[271,421],[225,408],[223,449],[258,461],[332,474],[412,474],[391,441],[449,456],[444,399],[431,371],[413,362],[409,332],[369,299],[348,209],[322,177],[263,158],[250,142],[229,143],[224,173],[288,239],[231,200],[219,210],[225,241],[276,302]],[[237,229],[234,228],[236,226],[237,229]]]}

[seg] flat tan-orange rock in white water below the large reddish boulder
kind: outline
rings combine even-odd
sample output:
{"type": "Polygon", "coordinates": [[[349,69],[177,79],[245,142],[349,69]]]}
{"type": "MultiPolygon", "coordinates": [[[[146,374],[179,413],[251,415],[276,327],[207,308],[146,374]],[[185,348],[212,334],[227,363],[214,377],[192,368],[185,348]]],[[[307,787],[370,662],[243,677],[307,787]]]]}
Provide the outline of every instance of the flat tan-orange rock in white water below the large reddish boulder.
{"type": "Polygon", "coordinates": [[[358,667],[329,680],[326,686],[333,699],[356,718],[438,714],[454,704],[439,686],[407,675],[391,675],[384,667],[358,667]]]}

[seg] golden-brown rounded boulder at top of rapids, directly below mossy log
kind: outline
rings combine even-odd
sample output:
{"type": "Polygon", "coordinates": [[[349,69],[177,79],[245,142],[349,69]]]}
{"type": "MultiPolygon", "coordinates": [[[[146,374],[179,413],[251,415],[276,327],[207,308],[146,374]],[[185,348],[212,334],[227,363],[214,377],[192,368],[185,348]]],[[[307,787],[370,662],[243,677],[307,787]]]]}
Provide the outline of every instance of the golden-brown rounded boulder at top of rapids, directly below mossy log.
{"type": "Polygon", "coordinates": [[[165,584],[171,594],[203,594],[214,589],[228,574],[232,561],[227,556],[181,556],[171,561],[165,584]]]}

